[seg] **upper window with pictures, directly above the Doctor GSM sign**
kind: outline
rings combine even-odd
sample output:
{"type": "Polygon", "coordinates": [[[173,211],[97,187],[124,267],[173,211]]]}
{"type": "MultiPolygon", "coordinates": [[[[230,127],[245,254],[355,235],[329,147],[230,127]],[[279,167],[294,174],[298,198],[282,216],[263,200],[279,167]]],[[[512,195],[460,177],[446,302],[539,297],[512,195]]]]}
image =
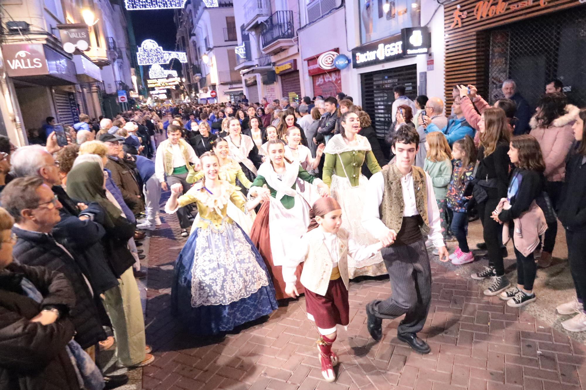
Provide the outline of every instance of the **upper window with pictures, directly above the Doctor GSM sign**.
{"type": "Polygon", "coordinates": [[[361,43],[421,26],[421,0],[358,0],[358,6],[361,43]]]}

